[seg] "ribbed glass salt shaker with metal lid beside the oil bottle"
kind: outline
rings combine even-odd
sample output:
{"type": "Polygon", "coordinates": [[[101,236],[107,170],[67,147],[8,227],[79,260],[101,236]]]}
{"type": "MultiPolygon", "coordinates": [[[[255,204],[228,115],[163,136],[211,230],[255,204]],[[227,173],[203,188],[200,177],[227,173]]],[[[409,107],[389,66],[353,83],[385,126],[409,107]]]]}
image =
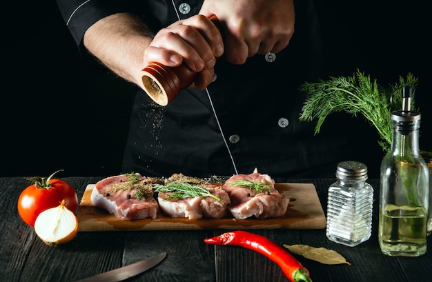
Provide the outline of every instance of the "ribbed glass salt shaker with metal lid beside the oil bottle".
{"type": "Polygon", "coordinates": [[[326,236],[354,247],[371,237],[373,188],[366,183],[366,165],[358,161],[338,163],[336,177],[328,188],[326,236]]]}

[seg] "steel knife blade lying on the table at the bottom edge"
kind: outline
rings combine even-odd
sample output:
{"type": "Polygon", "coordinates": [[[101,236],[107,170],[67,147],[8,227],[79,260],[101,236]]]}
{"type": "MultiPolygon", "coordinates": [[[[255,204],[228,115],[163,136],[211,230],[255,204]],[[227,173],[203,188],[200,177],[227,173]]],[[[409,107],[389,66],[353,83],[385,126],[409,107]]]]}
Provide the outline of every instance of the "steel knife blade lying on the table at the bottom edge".
{"type": "Polygon", "coordinates": [[[97,274],[95,276],[77,280],[75,282],[123,281],[132,276],[138,275],[146,270],[149,270],[150,268],[153,268],[153,266],[163,261],[165,259],[165,256],[166,256],[166,252],[163,252],[161,254],[157,254],[156,256],[152,256],[148,259],[143,259],[142,261],[138,261],[137,263],[132,263],[122,268],[116,268],[115,270],[110,270],[101,274],[97,274]]]}

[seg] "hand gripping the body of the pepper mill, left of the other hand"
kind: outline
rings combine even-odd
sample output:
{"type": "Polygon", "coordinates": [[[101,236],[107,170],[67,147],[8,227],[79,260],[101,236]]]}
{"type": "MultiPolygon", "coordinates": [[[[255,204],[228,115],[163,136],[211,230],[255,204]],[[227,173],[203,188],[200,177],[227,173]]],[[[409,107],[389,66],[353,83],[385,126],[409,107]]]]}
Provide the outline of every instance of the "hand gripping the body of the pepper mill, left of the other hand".
{"type": "Polygon", "coordinates": [[[144,66],[158,62],[186,64],[194,72],[195,87],[204,89],[213,79],[216,58],[224,53],[222,34],[208,17],[195,15],[159,30],[144,52],[144,66]]]}

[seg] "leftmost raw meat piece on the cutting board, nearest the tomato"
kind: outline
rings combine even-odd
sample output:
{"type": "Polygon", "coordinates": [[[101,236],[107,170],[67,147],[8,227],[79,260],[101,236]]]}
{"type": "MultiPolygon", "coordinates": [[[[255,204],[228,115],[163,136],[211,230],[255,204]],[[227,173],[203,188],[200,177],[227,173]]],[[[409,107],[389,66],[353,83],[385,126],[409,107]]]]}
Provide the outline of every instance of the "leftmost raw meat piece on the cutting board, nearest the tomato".
{"type": "Polygon", "coordinates": [[[108,177],[96,183],[90,199],[93,205],[119,219],[155,219],[158,204],[153,197],[153,183],[156,181],[138,173],[108,177]]]}

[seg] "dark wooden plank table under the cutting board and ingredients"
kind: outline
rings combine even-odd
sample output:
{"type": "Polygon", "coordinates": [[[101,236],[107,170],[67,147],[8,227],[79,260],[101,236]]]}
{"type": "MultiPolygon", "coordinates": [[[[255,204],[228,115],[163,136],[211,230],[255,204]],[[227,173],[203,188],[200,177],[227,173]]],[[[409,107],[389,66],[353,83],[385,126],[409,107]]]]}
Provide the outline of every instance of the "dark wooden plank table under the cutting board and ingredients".
{"type": "MultiPolygon", "coordinates": [[[[102,177],[66,177],[81,199],[86,185],[102,177]]],[[[284,179],[314,183],[326,212],[328,185],[335,179],[284,179]]],[[[432,236],[420,257],[391,257],[377,243],[378,181],[375,189],[371,239],[354,248],[328,241],[320,230],[251,230],[275,243],[307,244],[342,254],[352,265],[324,265],[294,255],[311,272],[313,281],[431,281],[432,236]]],[[[233,246],[213,246],[204,239],[227,230],[79,232],[69,243],[45,245],[17,212],[20,192],[30,183],[23,177],[0,178],[0,281],[76,281],[166,252],[155,268],[128,281],[288,281],[265,256],[233,246]]]]}

